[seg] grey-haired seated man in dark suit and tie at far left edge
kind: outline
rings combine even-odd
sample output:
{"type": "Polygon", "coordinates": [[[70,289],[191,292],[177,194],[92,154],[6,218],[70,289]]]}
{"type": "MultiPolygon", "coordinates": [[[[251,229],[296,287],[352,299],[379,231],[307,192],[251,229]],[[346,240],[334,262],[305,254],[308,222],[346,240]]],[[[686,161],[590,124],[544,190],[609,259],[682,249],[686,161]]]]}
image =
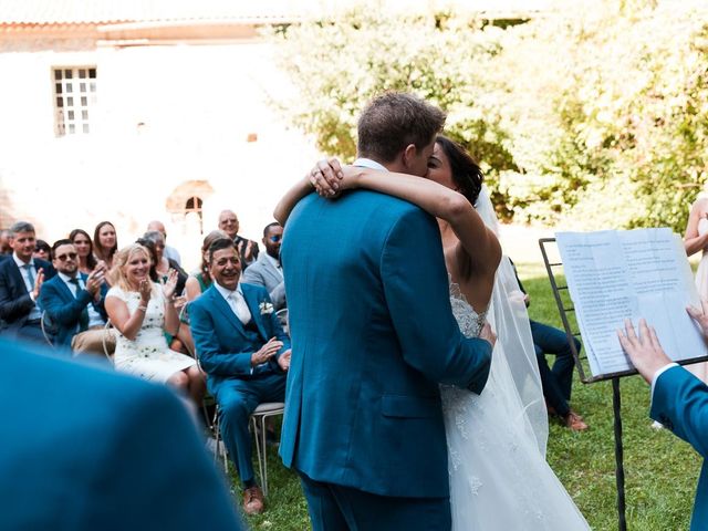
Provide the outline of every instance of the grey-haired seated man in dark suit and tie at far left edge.
{"type": "Polygon", "coordinates": [[[54,275],[54,268],[32,258],[34,227],[18,221],[10,227],[11,259],[0,262],[0,334],[44,342],[40,320],[40,289],[44,279],[54,275]]]}

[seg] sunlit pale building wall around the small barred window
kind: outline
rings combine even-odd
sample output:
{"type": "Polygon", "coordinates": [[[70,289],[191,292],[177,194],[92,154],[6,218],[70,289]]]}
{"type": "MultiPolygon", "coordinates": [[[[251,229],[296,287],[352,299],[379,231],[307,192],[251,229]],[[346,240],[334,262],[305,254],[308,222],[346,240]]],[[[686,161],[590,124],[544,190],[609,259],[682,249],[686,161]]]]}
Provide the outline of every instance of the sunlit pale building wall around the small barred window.
{"type": "Polygon", "coordinates": [[[258,41],[0,53],[0,186],[10,200],[0,221],[29,218],[53,241],[110,219],[126,243],[159,218],[191,266],[201,237],[165,204],[181,183],[207,180],[205,231],[229,207],[260,239],[280,195],[317,158],[268,105],[288,91],[269,53],[258,41]],[[97,67],[92,134],[56,138],[52,66],[84,64],[97,67]],[[258,142],[247,142],[251,133],[258,142]]]}

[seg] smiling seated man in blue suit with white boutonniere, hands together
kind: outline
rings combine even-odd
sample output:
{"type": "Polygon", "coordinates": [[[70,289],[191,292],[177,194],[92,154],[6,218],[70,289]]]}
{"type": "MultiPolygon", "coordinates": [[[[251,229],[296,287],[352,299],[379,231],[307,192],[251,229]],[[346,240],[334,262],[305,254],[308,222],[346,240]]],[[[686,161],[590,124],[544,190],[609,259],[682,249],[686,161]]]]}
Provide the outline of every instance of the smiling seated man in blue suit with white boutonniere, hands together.
{"type": "Polygon", "coordinates": [[[263,510],[263,493],[251,462],[249,418],[259,404],[284,400],[290,339],[266,289],[239,282],[241,259],[233,240],[216,240],[207,252],[214,283],[189,304],[190,329],[241,478],[243,510],[256,514],[263,510]]]}

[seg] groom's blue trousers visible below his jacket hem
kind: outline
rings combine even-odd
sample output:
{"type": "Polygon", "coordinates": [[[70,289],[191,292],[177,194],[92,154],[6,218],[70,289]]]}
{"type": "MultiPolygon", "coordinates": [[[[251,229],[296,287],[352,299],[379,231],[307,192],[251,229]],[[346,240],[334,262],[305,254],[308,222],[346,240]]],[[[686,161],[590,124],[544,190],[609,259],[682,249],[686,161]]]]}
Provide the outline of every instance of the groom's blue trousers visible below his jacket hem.
{"type": "Polygon", "coordinates": [[[449,498],[378,496],[298,473],[312,531],[449,531],[452,527],[449,498]]]}

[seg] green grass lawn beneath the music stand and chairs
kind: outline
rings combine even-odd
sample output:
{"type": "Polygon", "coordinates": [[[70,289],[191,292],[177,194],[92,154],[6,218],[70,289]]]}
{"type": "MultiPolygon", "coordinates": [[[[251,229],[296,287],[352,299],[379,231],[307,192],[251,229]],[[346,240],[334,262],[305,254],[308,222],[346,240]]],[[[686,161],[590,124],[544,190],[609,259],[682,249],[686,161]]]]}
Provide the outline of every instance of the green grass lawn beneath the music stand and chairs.
{"type": "MultiPolygon", "coordinates": [[[[530,316],[561,327],[544,268],[517,263],[531,296],[530,316]]],[[[649,388],[638,376],[621,381],[627,528],[688,529],[701,459],[648,417],[649,388]]],[[[590,429],[576,434],[550,423],[548,461],[594,530],[617,529],[612,384],[573,384],[572,406],[590,429]]],[[[309,530],[300,482],[269,448],[269,499],[263,514],[246,521],[253,530],[309,530]]],[[[231,475],[238,492],[238,479],[231,475]]],[[[539,496],[542,493],[539,492],[539,496]]],[[[238,497],[237,497],[238,498],[238,497]]]]}

